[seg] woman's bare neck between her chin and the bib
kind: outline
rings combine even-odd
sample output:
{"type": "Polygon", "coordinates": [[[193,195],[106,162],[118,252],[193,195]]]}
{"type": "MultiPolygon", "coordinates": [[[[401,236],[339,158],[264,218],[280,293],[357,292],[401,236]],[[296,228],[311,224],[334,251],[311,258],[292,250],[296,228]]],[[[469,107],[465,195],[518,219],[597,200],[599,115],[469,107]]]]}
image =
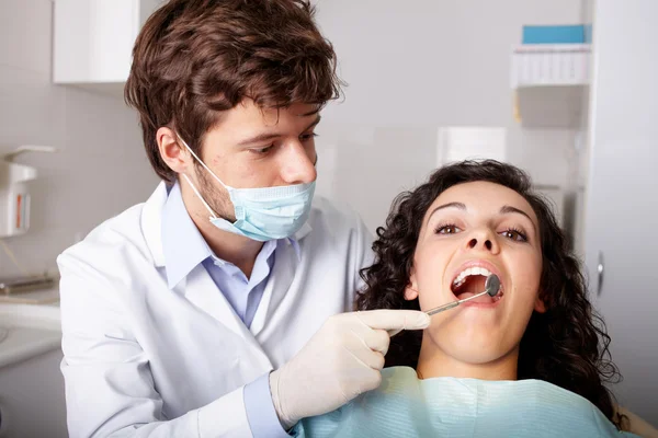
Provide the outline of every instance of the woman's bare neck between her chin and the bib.
{"type": "Polygon", "coordinates": [[[449,356],[429,336],[423,336],[416,371],[421,379],[455,377],[481,380],[517,380],[519,348],[498,360],[475,364],[449,356]]]}

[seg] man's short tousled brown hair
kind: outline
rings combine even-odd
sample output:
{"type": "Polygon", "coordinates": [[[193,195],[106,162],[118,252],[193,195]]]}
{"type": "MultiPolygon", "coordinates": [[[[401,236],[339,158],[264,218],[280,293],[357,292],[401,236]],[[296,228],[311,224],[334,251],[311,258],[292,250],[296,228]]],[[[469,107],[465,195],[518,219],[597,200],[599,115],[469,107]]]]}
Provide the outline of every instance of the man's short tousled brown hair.
{"type": "Polygon", "coordinates": [[[154,170],[172,182],[158,128],[177,130],[201,155],[204,135],[243,100],[319,111],[340,85],[336,54],[308,0],[170,0],[137,37],[125,100],[139,112],[154,170]]]}

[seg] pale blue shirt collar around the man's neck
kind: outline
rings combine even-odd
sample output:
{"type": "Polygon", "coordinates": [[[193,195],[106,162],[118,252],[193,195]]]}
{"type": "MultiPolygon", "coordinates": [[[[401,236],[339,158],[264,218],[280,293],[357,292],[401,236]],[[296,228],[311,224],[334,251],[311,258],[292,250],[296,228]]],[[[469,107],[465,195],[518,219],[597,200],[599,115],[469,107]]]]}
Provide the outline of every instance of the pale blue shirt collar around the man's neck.
{"type": "MultiPolygon", "coordinates": [[[[310,230],[310,226],[305,223],[295,235],[287,239],[280,239],[276,243],[291,244],[297,254],[297,260],[300,260],[302,250],[299,249],[298,240],[308,234],[310,230]]],[[[276,246],[274,245],[274,247],[276,246]]],[[[274,252],[274,249],[268,244],[263,245],[263,250],[268,250],[270,253],[274,252]]],[[[228,263],[215,256],[192,221],[192,218],[190,218],[178,182],[169,189],[169,195],[162,209],[162,252],[164,253],[164,266],[169,288],[178,285],[207,257],[213,257],[222,263],[228,263]]]]}

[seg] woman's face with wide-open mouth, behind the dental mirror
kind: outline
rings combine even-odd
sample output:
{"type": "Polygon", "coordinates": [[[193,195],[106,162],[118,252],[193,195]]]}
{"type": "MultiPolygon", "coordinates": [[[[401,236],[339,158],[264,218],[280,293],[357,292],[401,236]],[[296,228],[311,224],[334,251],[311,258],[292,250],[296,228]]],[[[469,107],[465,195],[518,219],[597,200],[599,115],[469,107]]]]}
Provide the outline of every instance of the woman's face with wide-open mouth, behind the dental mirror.
{"type": "Polygon", "coordinates": [[[418,296],[429,310],[484,291],[488,273],[500,278],[501,293],[433,315],[423,348],[431,341],[439,356],[470,365],[510,358],[533,310],[544,311],[538,222],[530,204],[494,183],[453,186],[426,214],[406,298],[418,296]]]}

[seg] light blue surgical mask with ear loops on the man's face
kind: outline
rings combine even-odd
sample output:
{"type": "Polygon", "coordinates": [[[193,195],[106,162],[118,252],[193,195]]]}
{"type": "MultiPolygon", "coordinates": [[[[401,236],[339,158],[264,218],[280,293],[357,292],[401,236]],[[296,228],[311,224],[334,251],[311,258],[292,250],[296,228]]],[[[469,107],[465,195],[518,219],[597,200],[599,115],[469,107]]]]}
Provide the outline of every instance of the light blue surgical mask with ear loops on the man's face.
{"type": "MultiPolygon", "coordinates": [[[[180,137],[179,137],[180,139],[180,137]]],[[[297,232],[310,211],[315,181],[309,184],[296,184],[279,187],[235,188],[222,182],[217,175],[192,151],[182,139],[181,142],[192,157],[219,182],[228,192],[235,208],[234,223],[219,218],[201,196],[190,177],[183,173],[196,196],[211,214],[209,221],[220,230],[265,242],[269,240],[290,238],[297,232]]]]}

